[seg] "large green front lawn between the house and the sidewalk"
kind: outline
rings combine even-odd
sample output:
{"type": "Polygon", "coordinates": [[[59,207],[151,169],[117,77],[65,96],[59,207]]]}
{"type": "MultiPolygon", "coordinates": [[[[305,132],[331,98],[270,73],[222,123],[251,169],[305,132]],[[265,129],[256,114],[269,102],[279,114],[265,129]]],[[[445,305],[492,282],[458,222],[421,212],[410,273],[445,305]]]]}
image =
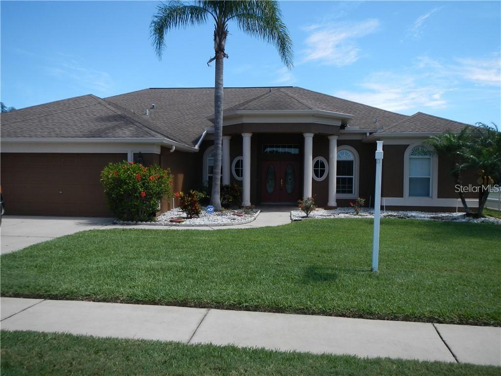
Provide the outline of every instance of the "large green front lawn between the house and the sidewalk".
{"type": "Polygon", "coordinates": [[[501,227],[383,219],[94,230],[1,257],[2,296],[501,325],[501,227]]]}

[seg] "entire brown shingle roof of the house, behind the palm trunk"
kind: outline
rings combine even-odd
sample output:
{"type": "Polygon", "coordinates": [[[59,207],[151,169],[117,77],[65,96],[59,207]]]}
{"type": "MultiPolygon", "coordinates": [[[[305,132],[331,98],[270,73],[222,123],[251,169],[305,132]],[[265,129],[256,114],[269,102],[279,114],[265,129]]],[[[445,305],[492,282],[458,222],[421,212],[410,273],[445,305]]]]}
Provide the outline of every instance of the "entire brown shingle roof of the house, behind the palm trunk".
{"type": "MultiPolygon", "coordinates": [[[[332,111],[352,115],[348,129],[383,133],[456,131],[465,125],[291,86],[225,88],[224,113],[232,110],[332,111]]],[[[213,88],[150,88],[105,99],[89,94],[4,113],[2,137],[167,137],[194,146],[213,125],[213,113],[213,88]]]]}

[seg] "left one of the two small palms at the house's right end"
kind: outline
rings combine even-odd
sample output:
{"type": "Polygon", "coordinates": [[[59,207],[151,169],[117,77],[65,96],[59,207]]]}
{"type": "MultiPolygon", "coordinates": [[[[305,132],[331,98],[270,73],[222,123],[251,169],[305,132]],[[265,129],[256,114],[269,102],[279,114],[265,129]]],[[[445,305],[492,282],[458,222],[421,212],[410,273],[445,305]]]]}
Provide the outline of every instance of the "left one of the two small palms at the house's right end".
{"type": "MultiPolygon", "coordinates": [[[[451,159],[452,165],[450,173],[454,176],[456,185],[461,185],[461,172],[467,168],[466,160],[463,154],[465,146],[468,145],[471,127],[464,127],[459,133],[445,132],[437,136],[433,136],[424,142],[433,146],[436,152],[446,155],[451,159]]],[[[468,204],[464,198],[464,192],[458,192],[461,203],[463,204],[464,212],[468,216],[470,214],[468,204]]]]}

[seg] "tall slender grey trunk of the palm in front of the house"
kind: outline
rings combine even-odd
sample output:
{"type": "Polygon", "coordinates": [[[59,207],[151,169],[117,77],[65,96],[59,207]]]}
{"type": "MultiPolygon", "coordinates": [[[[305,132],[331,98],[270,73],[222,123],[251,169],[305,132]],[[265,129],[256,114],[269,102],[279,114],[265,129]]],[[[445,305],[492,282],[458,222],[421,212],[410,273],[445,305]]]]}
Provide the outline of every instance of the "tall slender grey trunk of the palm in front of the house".
{"type": "Polygon", "coordinates": [[[216,73],[214,85],[214,171],[212,174],[212,192],[210,205],[221,210],[221,143],[222,143],[222,109],[223,109],[223,58],[222,52],[216,52],[216,73]]]}

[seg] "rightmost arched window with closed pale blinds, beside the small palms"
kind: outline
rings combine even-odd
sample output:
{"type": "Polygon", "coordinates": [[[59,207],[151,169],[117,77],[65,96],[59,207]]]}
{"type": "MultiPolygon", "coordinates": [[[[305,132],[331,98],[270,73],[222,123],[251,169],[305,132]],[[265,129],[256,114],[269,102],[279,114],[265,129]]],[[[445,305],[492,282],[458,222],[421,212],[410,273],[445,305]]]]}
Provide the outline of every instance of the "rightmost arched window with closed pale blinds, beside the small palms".
{"type": "Polygon", "coordinates": [[[409,197],[431,197],[431,153],[423,146],[409,154],[409,197]]]}

